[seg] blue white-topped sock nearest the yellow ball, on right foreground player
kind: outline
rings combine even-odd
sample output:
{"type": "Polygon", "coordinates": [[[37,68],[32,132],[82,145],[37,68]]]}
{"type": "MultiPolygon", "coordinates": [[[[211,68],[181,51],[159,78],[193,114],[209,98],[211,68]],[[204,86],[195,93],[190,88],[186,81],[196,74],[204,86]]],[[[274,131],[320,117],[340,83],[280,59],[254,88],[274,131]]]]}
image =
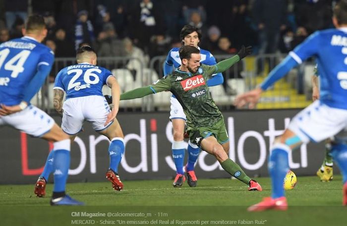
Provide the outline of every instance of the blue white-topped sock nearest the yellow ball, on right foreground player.
{"type": "Polygon", "coordinates": [[[269,173],[272,182],[272,198],[285,196],[283,180],[289,170],[288,152],[290,148],[285,144],[275,144],[269,158],[269,173]]]}

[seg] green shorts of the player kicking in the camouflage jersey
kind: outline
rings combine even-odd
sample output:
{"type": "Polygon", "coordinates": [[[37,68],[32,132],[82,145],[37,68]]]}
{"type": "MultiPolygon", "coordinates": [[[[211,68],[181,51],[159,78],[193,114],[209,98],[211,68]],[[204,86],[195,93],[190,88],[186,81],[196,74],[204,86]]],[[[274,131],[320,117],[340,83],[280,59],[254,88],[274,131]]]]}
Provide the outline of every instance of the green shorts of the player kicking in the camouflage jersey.
{"type": "Polygon", "coordinates": [[[214,136],[218,143],[224,144],[229,141],[227,128],[224,122],[224,117],[217,121],[212,127],[188,127],[187,132],[189,133],[190,142],[200,147],[202,139],[214,136]]]}

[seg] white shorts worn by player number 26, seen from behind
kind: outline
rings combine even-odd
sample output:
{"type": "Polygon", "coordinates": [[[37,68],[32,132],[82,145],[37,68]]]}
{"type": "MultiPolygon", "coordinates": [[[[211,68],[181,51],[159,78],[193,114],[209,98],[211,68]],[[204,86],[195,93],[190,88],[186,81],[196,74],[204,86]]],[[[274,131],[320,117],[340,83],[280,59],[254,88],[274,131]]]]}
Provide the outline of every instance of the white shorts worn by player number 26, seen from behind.
{"type": "Polygon", "coordinates": [[[70,98],[64,102],[62,109],[61,128],[69,135],[80,132],[84,121],[89,121],[95,131],[104,130],[112,124],[104,125],[111,110],[103,96],[70,98]]]}

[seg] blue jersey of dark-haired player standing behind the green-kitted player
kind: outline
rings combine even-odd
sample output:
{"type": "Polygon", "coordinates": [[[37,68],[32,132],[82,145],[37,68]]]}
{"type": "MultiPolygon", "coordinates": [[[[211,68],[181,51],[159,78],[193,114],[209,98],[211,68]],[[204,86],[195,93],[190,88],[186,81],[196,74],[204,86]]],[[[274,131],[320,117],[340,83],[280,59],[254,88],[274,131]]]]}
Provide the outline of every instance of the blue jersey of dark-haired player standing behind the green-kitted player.
{"type": "MultiPolygon", "coordinates": [[[[200,62],[207,65],[217,64],[216,58],[207,50],[200,49],[201,60],[200,62]]],[[[181,59],[179,58],[179,48],[173,48],[170,50],[168,56],[166,57],[166,63],[173,65],[174,68],[177,68],[181,65],[181,59]]],[[[165,74],[166,75],[166,74],[165,74]]]]}

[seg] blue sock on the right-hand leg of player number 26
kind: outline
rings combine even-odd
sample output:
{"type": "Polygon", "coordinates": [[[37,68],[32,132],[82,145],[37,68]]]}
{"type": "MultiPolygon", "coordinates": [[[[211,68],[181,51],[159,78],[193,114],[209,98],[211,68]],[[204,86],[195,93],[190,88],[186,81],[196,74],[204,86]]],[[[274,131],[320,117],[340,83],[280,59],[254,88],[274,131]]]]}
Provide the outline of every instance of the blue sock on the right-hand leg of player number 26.
{"type": "Polygon", "coordinates": [[[124,154],[124,139],[116,137],[109,146],[110,169],[118,173],[118,166],[124,154]]]}

